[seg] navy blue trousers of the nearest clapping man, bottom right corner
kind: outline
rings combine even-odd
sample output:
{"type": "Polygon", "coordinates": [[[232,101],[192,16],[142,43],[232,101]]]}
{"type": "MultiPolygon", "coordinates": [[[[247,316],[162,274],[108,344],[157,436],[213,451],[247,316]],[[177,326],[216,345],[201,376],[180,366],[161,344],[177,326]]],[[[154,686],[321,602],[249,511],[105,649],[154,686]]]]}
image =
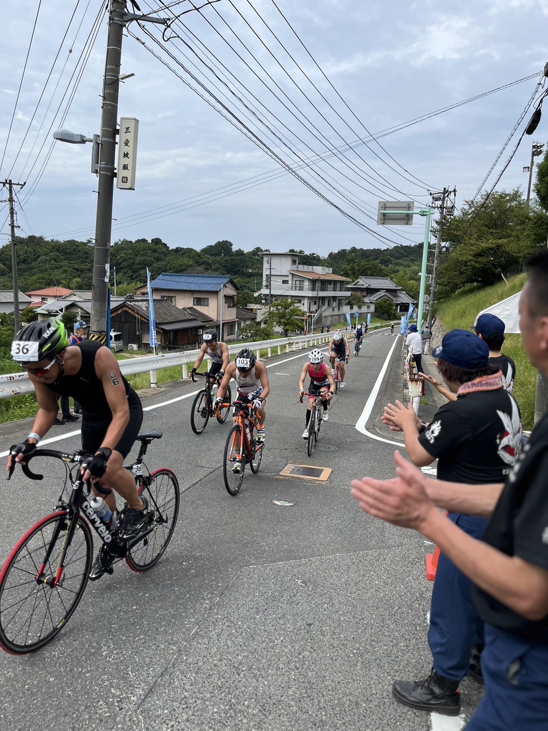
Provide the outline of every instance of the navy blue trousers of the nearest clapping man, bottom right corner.
{"type": "Polygon", "coordinates": [[[485,694],[466,731],[547,731],[548,645],[490,624],[485,641],[485,694]]]}

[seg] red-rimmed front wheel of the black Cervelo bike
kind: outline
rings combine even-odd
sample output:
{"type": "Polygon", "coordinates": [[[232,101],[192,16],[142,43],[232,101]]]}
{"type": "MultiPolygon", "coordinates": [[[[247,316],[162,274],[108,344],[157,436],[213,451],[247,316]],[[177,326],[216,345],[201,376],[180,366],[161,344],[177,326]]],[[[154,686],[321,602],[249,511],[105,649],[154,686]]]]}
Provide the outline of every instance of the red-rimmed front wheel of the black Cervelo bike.
{"type": "Polygon", "coordinates": [[[26,532],[0,571],[1,648],[25,655],[61,632],[82,599],[93,548],[88,523],[81,515],[71,519],[66,510],[47,515],[26,532]],[[72,520],[75,532],[61,569],[72,520]]]}

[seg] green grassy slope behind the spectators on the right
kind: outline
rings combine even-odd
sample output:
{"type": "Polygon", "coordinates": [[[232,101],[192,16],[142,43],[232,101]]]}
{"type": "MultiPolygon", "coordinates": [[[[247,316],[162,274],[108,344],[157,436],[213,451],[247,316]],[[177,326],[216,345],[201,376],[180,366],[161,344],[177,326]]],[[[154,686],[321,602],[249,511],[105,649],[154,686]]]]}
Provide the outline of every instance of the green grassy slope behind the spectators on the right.
{"type": "MultiPolygon", "coordinates": [[[[519,292],[525,279],[525,274],[522,274],[511,277],[508,284],[501,282],[495,284],[495,287],[486,287],[469,294],[453,295],[448,300],[439,303],[436,308],[437,317],[441,319],[446,331],[453,330],[455,327],[470,330],[479,312],[519,292]]],[[[523,428],[532,429],[535,413],[536,370],[530,365],[527,355],[525,355],[522,336],[511,333],[507,335],[503,353],[516,363],[514,396],[517,403],[520,404],[523,428]]]]}

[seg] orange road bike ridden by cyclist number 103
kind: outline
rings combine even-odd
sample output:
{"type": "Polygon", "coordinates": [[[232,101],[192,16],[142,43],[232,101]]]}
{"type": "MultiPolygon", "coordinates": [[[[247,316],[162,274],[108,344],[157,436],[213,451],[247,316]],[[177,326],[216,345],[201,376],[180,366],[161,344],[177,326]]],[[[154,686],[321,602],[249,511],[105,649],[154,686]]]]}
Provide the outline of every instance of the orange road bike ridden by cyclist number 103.
{"type": "MultiPolygon", "coordinates": [[[[223,406],[231,404],[223,404],[223,406]]],[[[223,477],[229,495],[236,495],[243,482],[246,464],[253,474],[259,471],[265,444],[257,442],[259,428],[253,404],[246,401],[233,401],[236,423],[232,426],[224,445],[223,477]]]]}

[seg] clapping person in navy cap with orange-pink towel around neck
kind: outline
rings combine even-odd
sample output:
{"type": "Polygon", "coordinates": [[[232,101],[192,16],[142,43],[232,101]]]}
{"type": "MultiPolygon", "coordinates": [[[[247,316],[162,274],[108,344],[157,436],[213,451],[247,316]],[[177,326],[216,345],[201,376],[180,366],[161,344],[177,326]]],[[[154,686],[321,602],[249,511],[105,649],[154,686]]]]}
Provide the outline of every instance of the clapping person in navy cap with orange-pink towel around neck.
{"type": "MultiPolygon", "coordinates": [[[[399,401],[388,404],[383,422],[403,431],[408,456],[416,466],[438,460],[439,480],[500,484],[520,452],[521,415],[504,388],[501,372],[490,366],[487,344],[469,330],[452,330],[432,355],[457,401],[441,406],[428,427],[411,404],[406,408],[399,401]]],[[[478,539],[487,526],[486,518],[458,507],[449,518],[478,539]]],[[[433,656],[430,675],[416,682],[397,681],[393,694],[411,708],[456,716],[460,681],[469,674],[482,680],[479,655],[484,638],[471,581],[444,555],[435,576],[428,644],[433,656]]]]}

